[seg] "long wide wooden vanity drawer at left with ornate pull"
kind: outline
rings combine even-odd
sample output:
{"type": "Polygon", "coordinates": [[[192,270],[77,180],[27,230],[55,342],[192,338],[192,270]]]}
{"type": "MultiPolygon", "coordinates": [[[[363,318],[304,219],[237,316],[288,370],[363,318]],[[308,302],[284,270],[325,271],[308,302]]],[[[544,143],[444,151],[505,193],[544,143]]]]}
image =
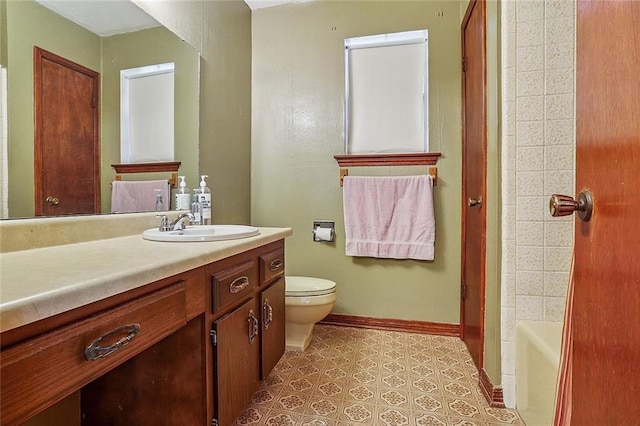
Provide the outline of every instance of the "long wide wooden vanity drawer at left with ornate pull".
{"type": "Polygon", "coordinates": [[[186,323],[185,283],[180,281],[3,349],[2,424],[20,423],[186,323]],[[90,361],[92,354],[96,358],[90,361]]]}

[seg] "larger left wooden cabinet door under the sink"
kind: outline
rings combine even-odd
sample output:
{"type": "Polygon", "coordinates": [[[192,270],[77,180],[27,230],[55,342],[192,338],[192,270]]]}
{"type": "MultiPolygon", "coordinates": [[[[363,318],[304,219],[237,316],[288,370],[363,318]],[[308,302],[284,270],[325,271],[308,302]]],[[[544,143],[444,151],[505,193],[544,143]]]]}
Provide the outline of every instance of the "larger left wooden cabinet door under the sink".
{"type": "Polygon", "coordinates": [[[260,323],[256,299],[213,323],[216,416],[229,426],[260,386],[260,323]]]}

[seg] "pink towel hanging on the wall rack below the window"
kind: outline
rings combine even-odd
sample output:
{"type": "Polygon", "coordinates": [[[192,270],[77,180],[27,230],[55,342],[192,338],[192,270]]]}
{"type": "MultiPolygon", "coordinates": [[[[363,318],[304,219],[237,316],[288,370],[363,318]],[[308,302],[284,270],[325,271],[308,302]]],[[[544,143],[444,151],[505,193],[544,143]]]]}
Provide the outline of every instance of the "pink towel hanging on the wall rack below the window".
{"type": "Polygon", "coordinates": [[[347,256],[433,260],[431,176],[344,177],[347,256]]]}

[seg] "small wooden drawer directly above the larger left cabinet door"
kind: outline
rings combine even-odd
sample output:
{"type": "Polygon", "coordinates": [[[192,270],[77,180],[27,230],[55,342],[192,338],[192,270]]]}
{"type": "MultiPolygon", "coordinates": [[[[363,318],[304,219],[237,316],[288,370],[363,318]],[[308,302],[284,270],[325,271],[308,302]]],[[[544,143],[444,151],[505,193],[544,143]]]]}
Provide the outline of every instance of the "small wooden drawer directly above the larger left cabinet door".
{"type": "Polygon", "coordinates": [[[248,260],[213,274],[211,276],[213,312],[218,312],[222,308],[244,300],[253,294],[256,288],[256,275],[255,262],[253,260],[248,260]]]}

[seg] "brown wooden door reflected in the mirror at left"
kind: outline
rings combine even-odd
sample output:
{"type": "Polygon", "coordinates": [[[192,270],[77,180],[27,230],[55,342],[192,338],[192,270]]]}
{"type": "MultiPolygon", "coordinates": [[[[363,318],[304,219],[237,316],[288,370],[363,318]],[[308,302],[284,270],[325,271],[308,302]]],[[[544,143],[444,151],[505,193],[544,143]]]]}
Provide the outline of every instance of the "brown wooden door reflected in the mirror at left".
{"type": "Polygon", "coordinates": [[[100,74],[34,47],[35,215],[100,213],[100,74]]]}

